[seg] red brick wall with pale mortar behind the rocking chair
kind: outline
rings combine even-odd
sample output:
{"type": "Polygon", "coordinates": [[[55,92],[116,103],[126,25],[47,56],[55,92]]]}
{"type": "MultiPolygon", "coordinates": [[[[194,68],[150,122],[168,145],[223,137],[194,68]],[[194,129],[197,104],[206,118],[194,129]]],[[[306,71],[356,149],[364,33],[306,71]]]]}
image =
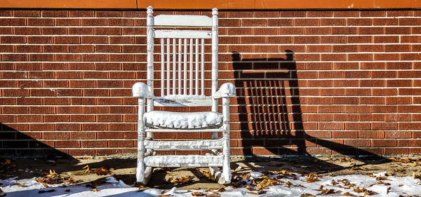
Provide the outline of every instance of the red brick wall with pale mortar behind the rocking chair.
{"type": "MultiPolygon", "coordinates": [[[[220,11],[220,82],[238,88],[232,154],[420,155],[420,16],[220,11]]],[[[0,11],[1,153],[135,153],[145,21],[145,11],[0,11]]]]}

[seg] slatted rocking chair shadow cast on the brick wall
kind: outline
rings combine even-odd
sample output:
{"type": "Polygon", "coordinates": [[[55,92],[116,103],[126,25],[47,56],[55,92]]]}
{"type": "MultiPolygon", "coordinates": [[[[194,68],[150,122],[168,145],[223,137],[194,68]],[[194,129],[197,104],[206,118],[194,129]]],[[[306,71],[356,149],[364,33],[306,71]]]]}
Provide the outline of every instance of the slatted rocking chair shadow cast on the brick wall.
{"type": "Polygon", "coordinates": [[[306,133],[292,50],[269,58],[243,56],[232,52],[235,86],[241,89],[237,97],[242,141],[239,147],[243,147],[244,155],[342,154],[381,158],[369,151],[306,133]]]}

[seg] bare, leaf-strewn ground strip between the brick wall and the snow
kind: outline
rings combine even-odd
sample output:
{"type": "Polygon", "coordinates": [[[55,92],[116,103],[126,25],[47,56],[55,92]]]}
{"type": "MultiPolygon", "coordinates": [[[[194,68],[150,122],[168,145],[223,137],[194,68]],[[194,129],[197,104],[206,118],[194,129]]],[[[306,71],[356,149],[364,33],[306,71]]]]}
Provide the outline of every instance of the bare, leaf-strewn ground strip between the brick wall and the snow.
{"type": "MultiPolygon", "coordinates": [[[[135,183],[136,160],[134,158],[85,158],[85,159],[16,159],[11,160],[1,179],[19,177],[27,179],[43,177],[49,170],[72,177],[79,184],[100,185],[105,177],[114,176],[126,184],[135,183]],[[97,168],[111,170],[107,175],[86,172],[86,165],[94,171],[97,168]]],[[[420,175],[421,161],[418,158],[332,158],[332,157],[291,157],[291,158],[233,158],[233,173],[241,175],[250,171],[280,171],[309,173],[320,176],[367,175],[387,172],[397,177],[420,175]]],[[[141,189],[218,189],[224,187],[208,177],[207,168],[155,168],[151,181],[141,189]]]]}

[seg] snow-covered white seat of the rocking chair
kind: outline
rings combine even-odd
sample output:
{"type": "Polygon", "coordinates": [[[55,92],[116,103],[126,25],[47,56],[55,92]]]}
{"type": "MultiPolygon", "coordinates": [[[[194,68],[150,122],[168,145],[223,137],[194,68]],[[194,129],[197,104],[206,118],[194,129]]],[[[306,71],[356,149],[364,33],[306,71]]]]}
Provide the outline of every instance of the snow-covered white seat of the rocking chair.
{"type": "Polygon", "coordinates": [[[219,128],[223,115],[218,112],[149,111],[143,115],[152,128],[199,129],[219,128]]]}

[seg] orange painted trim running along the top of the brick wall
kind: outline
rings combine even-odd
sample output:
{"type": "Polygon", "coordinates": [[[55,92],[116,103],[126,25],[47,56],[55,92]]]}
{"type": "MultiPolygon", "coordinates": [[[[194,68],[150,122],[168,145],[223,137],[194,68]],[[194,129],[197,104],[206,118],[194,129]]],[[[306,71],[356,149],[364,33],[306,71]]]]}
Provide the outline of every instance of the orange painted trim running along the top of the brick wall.
{"type": "Polygon", "coordinates": [[[1,0],[0,8],[312,9],[421,8],[421,0],[1,0]]]}

